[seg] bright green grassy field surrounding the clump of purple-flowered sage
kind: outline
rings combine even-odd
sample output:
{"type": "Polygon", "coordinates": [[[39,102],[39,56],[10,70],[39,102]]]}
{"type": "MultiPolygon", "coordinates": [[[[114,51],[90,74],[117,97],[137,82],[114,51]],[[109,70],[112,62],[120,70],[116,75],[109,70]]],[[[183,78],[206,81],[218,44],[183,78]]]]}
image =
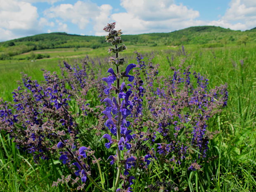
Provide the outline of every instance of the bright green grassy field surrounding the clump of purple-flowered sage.
{"type": "MultiPolygon", "coordinates": [[[[228,107],[208,123],[209,130],[219,132],[210,143],[210,153],[217,151],[218,158],[212,162],[217,173],[210,175],[211,187],[199,187],[200,190],[197,192],[253,192],[256,190],[256,44],[249,42],[246,46],[228,44],[212,48],[192,44],[185,45],[185,54],[178,51],[181,49],[181,46],[129,45],[123,57],[128,58],[127,63],[136,63],[136,56],[133,54],[135,50],[147,55],[147,58],[154,55],[152,63],[160,64],[159,74],[162,76],[169,76],[170,67],[178,66],[181,60],[185,59],[186,66],[191,65],[192,71],[200,72],[209,79],[210,88],[228,84],[228,107]]],[[[12,100],[11,92],[17,88],[16,81],[21,79],[20,72],[42,81],[43,72],[40,69],[59,71],[59,62],[65,60],[73,64],[87,55],[89,58],[97,57],[104,61],[108,57],[106,50],[107,47],[34,50],[35,54],[49,54],[50,58],[31,62],[24,59],[26,55],[31,54],[28,52],[14,56],[15,59],[12,60],[2,60],[0,97],[12,100]]],[[[89,64],[95,71],[100,71],[98,65],[93,66],[90,61],[89,64]]],[[[102,68],[104,71],[109,68],[109,64],[103,62],[102,68]]],[[[99,75],[104,74],[103,72],[99,75]]],[[[62,188],[51,187],[52,181],[56,181],[59,175],[62,175],[63,170],[58,159],[50,163],[42,160],[40,164],[35,164],[29,154],[15,148],[8,135],[1,133],[0,143],[0,191],[69,191],[69,187],[65,185],[62,188]]],[[[195,176],[188,175],[188,182],[192,182],[190,177],[193,179],[195,176]]],[[[203,178],[199,177],[198,180],[200,183],[203,178]]],[[[144,192],[140,182],[136,182],[133,188],[135,192],[144,192]]]]}

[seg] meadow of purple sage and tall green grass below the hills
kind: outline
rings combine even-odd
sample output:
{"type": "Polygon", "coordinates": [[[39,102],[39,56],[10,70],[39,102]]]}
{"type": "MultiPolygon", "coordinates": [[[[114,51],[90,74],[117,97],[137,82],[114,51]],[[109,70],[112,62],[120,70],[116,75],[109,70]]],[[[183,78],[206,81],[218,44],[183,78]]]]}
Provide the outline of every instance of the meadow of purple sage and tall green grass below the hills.
{"type": "Polygon", "coordinates": [[[256,191],[255,45],[125,54],[103,30],[104,57],[0,99],[0,191],[256,191]]]}

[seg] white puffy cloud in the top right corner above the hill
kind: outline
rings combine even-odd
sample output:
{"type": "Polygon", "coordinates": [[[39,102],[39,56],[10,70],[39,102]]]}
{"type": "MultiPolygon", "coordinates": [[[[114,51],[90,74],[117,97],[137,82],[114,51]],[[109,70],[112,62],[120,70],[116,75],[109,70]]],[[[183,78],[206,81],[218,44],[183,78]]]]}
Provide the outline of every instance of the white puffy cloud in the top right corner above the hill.
{"type": "Polygon", "coordinates": [[[242,31],[254,28],[256,27],[256,1],[231,0],[223,17],[208,24],[242,31]]]}

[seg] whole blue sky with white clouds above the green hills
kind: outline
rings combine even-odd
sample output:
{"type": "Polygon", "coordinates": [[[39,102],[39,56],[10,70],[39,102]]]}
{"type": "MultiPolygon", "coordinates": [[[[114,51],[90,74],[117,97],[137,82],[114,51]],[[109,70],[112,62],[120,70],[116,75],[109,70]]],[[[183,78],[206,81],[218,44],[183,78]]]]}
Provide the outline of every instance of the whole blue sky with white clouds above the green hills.
{"type": "Polygon", "coordinates": [[[0,41],[38,33],[105,35],[116,22],[125,34],[214,25],[256,27],[256,0],[0,0],[0,41]]]}

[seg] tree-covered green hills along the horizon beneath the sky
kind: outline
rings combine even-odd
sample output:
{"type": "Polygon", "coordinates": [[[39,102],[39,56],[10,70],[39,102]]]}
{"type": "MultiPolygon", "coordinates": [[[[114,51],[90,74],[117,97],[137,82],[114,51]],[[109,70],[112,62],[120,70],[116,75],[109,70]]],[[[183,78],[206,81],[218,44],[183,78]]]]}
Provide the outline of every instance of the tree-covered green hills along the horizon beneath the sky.
{"type": "MultiPolygon", "coordinates": [[[[0,43],[0,60],[12,59],[31,50],[42,50],[67,47],[105,47],[105,38],[99,36],[79,36],[67,33],[45,33],[35,36],[9,40],[0,43]]],[[[222,47],[230,43],[256,42],[256,29],[248,31],[233,31],[216,26],[189,27],[171,33],[148,33],[140,35],[124,35],[126,45],[189,45],[197,44],[203,47],[222,47]]]]}

